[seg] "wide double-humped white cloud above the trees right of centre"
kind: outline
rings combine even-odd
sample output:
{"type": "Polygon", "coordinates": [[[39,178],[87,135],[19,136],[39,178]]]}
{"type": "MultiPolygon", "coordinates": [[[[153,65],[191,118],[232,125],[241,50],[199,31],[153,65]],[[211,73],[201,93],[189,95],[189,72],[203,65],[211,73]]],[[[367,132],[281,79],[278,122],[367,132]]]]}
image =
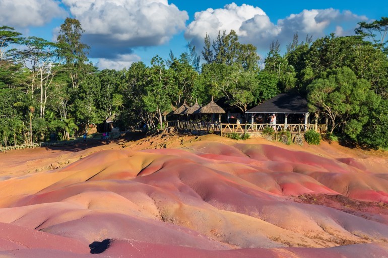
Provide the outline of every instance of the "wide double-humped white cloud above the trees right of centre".
{"type": "Polygon", "coordinates": [[[352,34],[357,22],[365,21],[365,16],[357,16],[350,11],[336,9],[303,10],[284,19],[271,22],[270,17],[258,7],[237,6],[232,3],[223,9],[208,9],[195,14],[185,31],[185,38],[191,40],[198,49],[202,49],[206,33],[215,39],[218,31],[234,30],[242,43],[250,43],[259,52],[269,50],[272,41],[278,40],[284,47],[292,41],[295,33],[301,40],[309,34],[313,39],[335,32],[338,35],[352,34]],[[344,27],[347,27],[345,30],[344,27]]]}

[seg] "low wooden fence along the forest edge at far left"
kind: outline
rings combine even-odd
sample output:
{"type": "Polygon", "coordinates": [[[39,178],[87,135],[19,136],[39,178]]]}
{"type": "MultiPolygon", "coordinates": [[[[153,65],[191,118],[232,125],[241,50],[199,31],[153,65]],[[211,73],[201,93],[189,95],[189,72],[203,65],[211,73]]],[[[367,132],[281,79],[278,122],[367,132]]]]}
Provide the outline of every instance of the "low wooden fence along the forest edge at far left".
{"type": "MultiPolygon", "coordinates": [[[[120,137],[120,135],[122,133],[123,132],[111,133],[111,134],[109,134],[107,139],[118,138],[118,137],[120,137]]],[[[90,140],[92,140],[92,139],[88,139],[88,141],[90,141],[90,140]]],[[[93,140],[100,140],[100,139],[93,139],[93,140]]],[[[45,141],[45,142],[34,142],[33,144],[19,144],[19,145],[1,146],[0,152],[7,152],[10,150],[14,150],[14,149],[28,149],[28,148],[42,148],[42,147],[48,148],[48,147],[69,146],[69,145],[74,145],[74,144],[80,143],[82,141],[83,141],[83,139],[80,138],[80,139],[69,140],[69,141],[54,141],[54,142],[45,141]]]]}

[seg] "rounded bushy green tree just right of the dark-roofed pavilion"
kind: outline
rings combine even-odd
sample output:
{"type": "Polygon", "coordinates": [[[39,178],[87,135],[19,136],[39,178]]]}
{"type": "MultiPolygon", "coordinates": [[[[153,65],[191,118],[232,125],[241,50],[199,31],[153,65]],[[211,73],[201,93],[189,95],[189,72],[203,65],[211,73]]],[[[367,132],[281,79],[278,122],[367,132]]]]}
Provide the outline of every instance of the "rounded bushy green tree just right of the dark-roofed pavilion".
{"type": "Polygon", "coordinates": [[[307,87],[310,109],[322,110],[331,121],[333,131],[339,131],[356,139],[362,126],[367,122],[368,100],[373,99],[370,83],[358,79],[348,67],[328,70],[320,78],[315,79],[307,87]]]}

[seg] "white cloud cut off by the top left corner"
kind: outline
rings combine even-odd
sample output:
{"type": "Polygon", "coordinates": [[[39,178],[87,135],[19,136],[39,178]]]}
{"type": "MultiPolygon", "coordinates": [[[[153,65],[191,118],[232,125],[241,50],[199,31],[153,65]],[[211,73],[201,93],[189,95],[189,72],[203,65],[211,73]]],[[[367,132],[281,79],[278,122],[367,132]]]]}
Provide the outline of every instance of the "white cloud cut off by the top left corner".
{"type": "Polygon", "coordinates": [[[0,24],[17,28],[43,26],[53,18],[66,17],[55,0],[0,0],[0,24]]]}

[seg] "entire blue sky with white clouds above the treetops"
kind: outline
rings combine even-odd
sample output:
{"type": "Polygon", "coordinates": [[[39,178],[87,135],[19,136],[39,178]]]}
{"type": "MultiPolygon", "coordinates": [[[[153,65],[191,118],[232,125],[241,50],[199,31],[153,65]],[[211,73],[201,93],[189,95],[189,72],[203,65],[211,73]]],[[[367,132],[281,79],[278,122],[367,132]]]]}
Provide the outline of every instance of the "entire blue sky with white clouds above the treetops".
{"type": "Polygon", "coordinates": [[[0,26],[24,36],[55,40],[66,17],[85,30],[89,58],[100,68],[121,69],[134,61],[147,65],[156,54],[178,56],[187,42],[200,51],[206,33],[235,30],[265,56],[272,41],[283,47],[298,32],[313,39],[329,33],[353,35],[360,21],[388,15],[385,1],[234,1],[207,0],[0,0],[0,26]]]}

